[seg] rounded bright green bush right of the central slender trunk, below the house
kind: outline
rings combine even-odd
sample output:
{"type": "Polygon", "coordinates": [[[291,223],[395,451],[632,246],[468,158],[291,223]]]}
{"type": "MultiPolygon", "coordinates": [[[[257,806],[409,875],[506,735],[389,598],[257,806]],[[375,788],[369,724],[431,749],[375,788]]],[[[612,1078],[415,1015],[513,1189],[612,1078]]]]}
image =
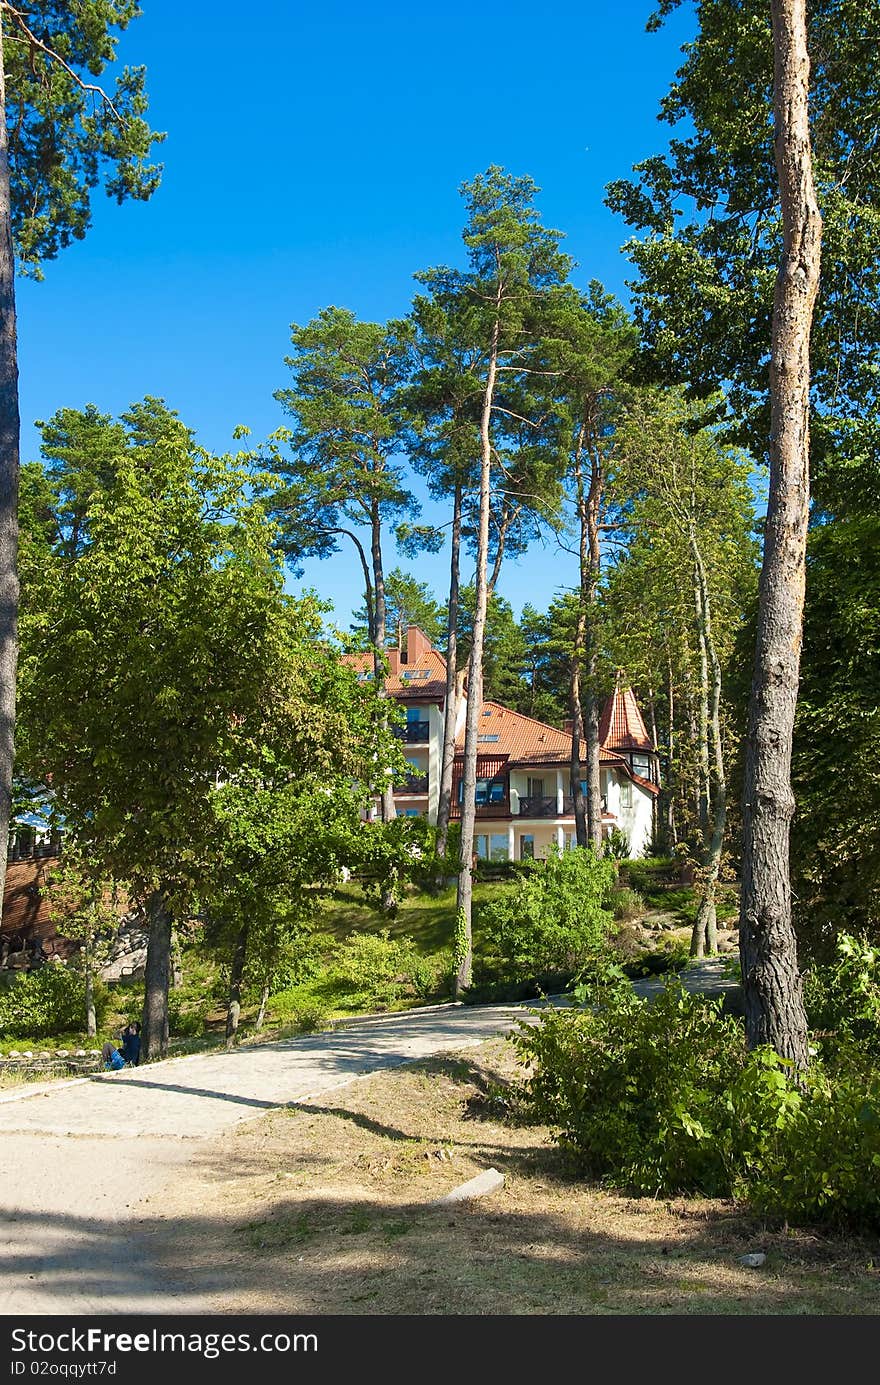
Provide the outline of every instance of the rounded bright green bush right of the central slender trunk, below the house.
{"type": "Polygon", "coordinates": [[[478,913],[478,981],[571,975],[607,950],[614,863],[578,848],[535,861],[478,913]]]}

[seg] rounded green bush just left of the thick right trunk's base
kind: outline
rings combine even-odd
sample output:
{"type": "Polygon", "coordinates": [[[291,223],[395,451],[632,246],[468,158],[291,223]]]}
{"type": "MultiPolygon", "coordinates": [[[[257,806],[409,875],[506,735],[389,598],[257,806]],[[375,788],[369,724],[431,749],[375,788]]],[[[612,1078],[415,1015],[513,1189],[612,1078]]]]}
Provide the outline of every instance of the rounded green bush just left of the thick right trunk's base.
{"type": "Polygon", "coordinates": [[[516,1044],[536,1065],[534,1118],[637,1192],[729,1194],[800,1100],[772,1053],[747,1057],[739,1022],[678,981],[653,1004],[619,989],[595,1014],[549,1012],[516,1044]]]}

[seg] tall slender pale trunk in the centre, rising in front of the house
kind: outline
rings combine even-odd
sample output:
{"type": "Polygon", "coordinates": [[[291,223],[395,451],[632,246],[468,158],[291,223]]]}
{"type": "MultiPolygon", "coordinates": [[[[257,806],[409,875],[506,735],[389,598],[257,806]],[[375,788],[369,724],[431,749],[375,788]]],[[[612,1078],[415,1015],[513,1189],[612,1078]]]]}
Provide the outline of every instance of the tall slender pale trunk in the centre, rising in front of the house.
{"type": "MultiPolygon", "coordinates": [[[[500,295],[500,289],[499,289],[500,295]]],[[[500,296],[499,296],[500,309],[500,296]]],[[[500,319],[496,316],[492,328],[492,346],[486,388],[482,397],[479,420],[479,522],[477,529],[477,578],[474,600],[474,633],[467,666],[467,719],[464,726],[464,767],[461,773],[461,857],[459,889],[456,895],[456,974],[453,996],[457,999],[471,983],[473,931],[471,909],[474,900],[474,824],[477,819],[477,749],[479,717],[482,713],[482,647],[486,625],[486,560],[489,553],[489,483],[492,475],[492,400],[498,370],[498,342],[500,319]]]]}

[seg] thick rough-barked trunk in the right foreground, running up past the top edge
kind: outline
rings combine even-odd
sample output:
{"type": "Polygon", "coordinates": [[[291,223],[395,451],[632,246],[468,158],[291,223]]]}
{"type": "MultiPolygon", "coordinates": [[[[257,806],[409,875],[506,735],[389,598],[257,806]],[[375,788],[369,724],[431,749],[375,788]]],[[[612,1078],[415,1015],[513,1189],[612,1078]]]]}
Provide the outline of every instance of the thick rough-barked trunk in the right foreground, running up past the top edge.
{"type": "Polygon", "coordinates": [[[740,960],[750,1047],[802,1072],[807,1017],[791,921],[791,740],[801,658],[809,512],[809,332],[822,220],[809,145],[805,0],[771,0],[783,259],[771,343],[771,483],[746,738],[740,960]]]}

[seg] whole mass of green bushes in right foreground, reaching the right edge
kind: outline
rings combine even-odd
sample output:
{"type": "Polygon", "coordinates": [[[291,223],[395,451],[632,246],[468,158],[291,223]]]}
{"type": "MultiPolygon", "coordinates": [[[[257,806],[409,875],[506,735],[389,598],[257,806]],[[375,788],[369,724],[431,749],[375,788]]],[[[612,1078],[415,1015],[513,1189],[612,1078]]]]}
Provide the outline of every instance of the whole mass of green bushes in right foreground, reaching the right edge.
{"type": "Polygon", "coordinates": [[[549,1011],[514,1039],[521,1108],[593,1177],[643,1194],[736,1195],[795,1223],[880,1228],[880,1076],[841,1047],[804,1090],[747,1053],[721,1000],[671,979],[653,1003],[618,988],[595,1012],[549,1011]]]}

